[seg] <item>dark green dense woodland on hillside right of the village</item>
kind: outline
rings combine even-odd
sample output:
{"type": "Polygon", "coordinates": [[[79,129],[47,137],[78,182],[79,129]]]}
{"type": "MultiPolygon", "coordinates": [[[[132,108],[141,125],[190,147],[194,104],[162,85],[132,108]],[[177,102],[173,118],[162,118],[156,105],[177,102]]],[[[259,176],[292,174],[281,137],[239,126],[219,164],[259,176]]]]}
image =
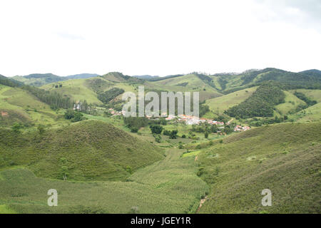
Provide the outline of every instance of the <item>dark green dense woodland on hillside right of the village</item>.
{"type": "Polygon", "coordinates": [[[270,117],[273,108],[285,102],[285,94],[277,83],[263,83],[248,99],[225,110],[225,114],[235,118],[270,117]]]}

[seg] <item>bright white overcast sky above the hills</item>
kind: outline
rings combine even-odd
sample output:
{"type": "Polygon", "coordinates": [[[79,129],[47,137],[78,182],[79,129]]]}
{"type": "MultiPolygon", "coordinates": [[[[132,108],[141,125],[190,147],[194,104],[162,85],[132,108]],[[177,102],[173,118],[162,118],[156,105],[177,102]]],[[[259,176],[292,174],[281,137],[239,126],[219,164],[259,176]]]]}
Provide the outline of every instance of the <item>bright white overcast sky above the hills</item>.
{"type": "Polygon", "coordinates": [[[0,0],[0,74],[321,70],[320,0],[0,0]]]}

